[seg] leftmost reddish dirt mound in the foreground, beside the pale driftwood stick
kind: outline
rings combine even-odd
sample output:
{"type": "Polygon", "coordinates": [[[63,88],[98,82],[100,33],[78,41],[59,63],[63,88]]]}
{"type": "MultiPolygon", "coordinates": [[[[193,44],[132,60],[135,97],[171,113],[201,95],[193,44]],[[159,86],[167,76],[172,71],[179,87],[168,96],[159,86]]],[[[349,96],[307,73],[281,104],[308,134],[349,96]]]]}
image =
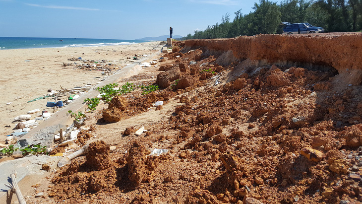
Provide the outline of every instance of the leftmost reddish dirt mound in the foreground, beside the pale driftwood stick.
{"type": "Polygon", "coordinates": [[[88,153],[72,160],[52,179],[49,196],[76,202],[82,195],[115,191],[117,181],[115,163],[110,160],[109,146],[104,141],[89,144],[88,153]]]}

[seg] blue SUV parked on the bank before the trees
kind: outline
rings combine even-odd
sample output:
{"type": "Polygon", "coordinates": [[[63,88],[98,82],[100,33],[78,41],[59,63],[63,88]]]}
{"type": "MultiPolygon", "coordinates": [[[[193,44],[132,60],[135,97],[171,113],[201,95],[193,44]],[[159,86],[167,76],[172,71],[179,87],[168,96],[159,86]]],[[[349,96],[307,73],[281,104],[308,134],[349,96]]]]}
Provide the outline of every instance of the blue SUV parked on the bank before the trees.
{"type": "Polygon", "coordinates": [[[288,23],[283,28],[283,34],[303,34],[303,33],[324,33],[324,29],[321,27],[314,27],[309,23],[288,23]]]}

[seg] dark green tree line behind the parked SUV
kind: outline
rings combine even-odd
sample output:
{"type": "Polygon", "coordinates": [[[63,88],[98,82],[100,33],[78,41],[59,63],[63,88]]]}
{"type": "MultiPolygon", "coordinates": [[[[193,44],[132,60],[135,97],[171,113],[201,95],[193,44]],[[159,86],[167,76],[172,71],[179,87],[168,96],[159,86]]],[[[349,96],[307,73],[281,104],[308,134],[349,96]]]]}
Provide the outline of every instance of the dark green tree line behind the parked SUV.
{"type": "Polygon", "coordinates": [[[222,16],[221,23],[195,30],[183,39],[233,38],[240,35],[282,33],[281,22],[307,22],[323,27],[325,32],[362,30],[362,0],[283,0],[280,4],[268,0],[254,3],[254,11],[236,11],[222,16]]]}

